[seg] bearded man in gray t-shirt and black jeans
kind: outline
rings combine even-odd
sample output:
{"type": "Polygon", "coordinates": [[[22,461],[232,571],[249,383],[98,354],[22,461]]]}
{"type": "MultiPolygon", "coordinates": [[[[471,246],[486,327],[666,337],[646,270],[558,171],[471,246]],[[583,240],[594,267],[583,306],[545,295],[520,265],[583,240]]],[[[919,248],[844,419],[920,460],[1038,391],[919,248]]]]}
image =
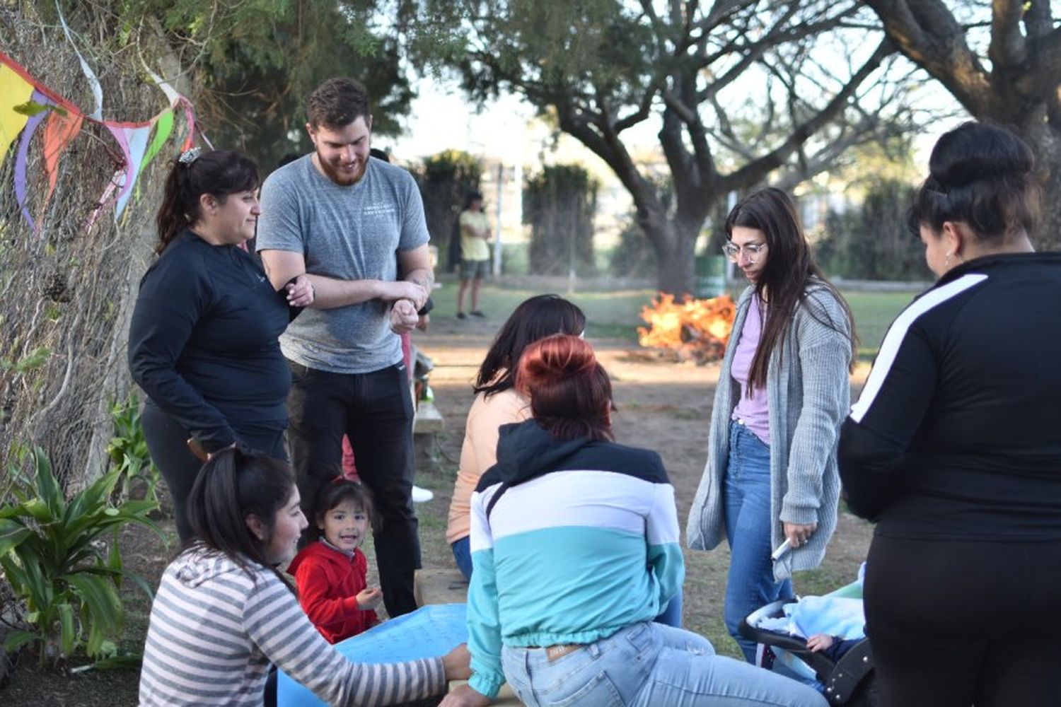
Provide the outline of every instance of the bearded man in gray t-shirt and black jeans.
{"type": "Polygon", "coordinates": [[[257,248],[278,289],[307,273],[314,302],[280,337],[292,371],[288,442],[311,527],[341,469],[347,435],[381,520],[375,535],[390,616],[416,608],[420,565],[413,485],[413,404],[398,333],[432,287],[428,227],[413,177],[368,155],[364,88],[331,78],[310,96],[314,152],[262,185],[257,248]],[[396,258],[397,255],[397,258],[396,258]]]}

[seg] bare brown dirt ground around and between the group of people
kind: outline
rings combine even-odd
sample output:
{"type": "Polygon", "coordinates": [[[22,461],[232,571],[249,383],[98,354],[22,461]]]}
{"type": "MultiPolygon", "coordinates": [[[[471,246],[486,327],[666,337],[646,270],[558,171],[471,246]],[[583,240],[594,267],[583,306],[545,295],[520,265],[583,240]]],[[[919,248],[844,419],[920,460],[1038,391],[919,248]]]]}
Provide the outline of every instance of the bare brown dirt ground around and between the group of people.
{"type": "MultiPolygon", "coordinates": [[[[446,544],[446,517],[453,479],[456,475],[464,422],[471,405],[471,381],[483,359],[497,321],[437,321],[416,342],[434,360],[431,385],[435,404],[446,420],[431,455],[419,459],[417,482],[435,493],[434,500],[418,507],[424,567],[452,567],[453,556],[446,544]]],[[[664,363],[625,341],[593,340],[597,355],[612,377],[619,413],[614,418],[620,442],[659,452],[675,485],[678,513],[684,528],[689,505],[696,492],[707,455],[707,429],[711,400],[718,381],[718,367],[664,363]]],[[[860,387],[865,370],[855,377],[860,387]]],[[[166,524],[171,527],[170,524],[166,524]]],[[[802,594],[821,594],[847,584],[869,547],[870,527],[841,513],[839,527],[825,562],[814,572],[796,579],[802,594]]],[[[127,566],[153,586],[158,585],[166,564],[175,554],[150,532],[129,529],[123,533],[127,566]]],[[[371,548],[369,567],[375,567],[371,548]]],[[[737,655],[721,621],[721,599],[729,565],[725,547],[712,552],[685,551],[685,628],[708,636],[719,653],[737,655]]],[[[370,578],[370,581],[375,581],[370,578]]],[[[140,650],[146,630],[150,604],[128,590],[124,597],[129,614],[123,648],[140,650]]],[[[33,666],[16,669],[11,684],[0,690],[0,703],[19,705],[105,705],[135,704],[137,671],[89,671],[79,675],[55,674],[33,666]]]]}

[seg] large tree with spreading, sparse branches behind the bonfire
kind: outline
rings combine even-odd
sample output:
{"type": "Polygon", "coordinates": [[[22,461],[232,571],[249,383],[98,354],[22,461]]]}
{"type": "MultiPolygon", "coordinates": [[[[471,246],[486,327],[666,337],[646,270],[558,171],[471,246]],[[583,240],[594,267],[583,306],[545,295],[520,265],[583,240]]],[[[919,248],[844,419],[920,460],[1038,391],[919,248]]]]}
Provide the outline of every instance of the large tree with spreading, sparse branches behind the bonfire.
{"type": "Polygon", "coordinates": [[[419,17],[464,37],[445,60],[471,95],[522,95],[609,165],[660,287],[678,294],[692,291],[696,237],[727,194],[778,169],[820,172],[907,114],[892,49],[853,0],[423,0],[419,17]],[[634,128],[656,132],[663,164],[634,158],[634,128]]]}

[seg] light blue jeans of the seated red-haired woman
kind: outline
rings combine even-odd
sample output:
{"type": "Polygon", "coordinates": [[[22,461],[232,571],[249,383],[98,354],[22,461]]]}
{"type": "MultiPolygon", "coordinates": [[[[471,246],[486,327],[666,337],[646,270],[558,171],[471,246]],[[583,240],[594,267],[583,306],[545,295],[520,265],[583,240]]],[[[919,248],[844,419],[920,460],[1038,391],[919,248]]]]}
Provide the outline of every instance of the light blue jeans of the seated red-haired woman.
{"type": "Polygon", "coordinates": [[[708,639],[642,622],[550,660],[543,648],[501,651],[505,679],[529,707],[825,707],[762,668],[715,655],[708,639]]]}

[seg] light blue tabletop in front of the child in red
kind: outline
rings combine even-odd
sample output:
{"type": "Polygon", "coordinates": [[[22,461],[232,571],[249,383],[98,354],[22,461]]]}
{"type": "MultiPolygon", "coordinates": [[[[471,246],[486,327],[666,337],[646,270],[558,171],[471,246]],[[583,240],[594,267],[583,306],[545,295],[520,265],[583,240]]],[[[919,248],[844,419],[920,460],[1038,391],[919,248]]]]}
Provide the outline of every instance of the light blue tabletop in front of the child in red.
{"type": "MultiPolygon", "coordinates": [[[[335,644],[353,662],[401,662],[449,653],[468,640],[466,604],[429,604],[335,644]]],[[[319,707],[315,694],[277,671],[277,707],[319,707]]]]}

